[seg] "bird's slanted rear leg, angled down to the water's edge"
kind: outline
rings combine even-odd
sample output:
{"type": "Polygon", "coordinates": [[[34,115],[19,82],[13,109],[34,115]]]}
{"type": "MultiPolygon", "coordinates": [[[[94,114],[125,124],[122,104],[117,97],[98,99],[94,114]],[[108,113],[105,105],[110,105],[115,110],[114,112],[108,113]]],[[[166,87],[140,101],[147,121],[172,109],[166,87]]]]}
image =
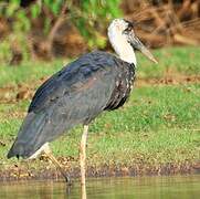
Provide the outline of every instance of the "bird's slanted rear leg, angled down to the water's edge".
{"type": "Polygon", "coordinates": [[[46,157],[55,165],[55,167],[56,167],[56,168],[60,170],[60,172],[63,175],[63,177],[65,178],[67,185],[69,185],[69,186],[72,185],[70,177],[65,174],[62,165],[61,165],[61,164],[57,161],[57,159],[53,156],[50,147],[44,148],[43,151],[44,151],[44,154],[46,155],[46,157]]]}

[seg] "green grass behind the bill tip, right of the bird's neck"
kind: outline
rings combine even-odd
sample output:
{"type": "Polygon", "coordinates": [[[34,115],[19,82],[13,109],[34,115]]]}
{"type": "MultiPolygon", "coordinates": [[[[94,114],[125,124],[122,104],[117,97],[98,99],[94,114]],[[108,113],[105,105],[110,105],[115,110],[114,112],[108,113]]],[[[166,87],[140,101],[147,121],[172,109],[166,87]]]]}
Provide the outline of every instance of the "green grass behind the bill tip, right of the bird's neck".
{"type": "Polygon", "coordinates": [[[158,64],[149,62],[144,55],[138,54],[138,75],[140,77],[162,77],[170,75],[200,74],[200,48],[182,46],[166,48],[154,52],[158,64]]]}

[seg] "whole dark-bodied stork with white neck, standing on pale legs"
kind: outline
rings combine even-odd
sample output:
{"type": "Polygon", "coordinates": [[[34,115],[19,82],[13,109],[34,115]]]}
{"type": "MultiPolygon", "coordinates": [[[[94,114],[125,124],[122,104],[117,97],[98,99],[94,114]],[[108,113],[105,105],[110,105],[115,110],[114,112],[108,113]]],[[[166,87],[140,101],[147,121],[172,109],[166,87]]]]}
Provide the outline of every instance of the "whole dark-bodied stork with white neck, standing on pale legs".
{"type": "Polygon", "coordinates": [[[77,124],[83,124],[80,158],[82,184],[85,184],[88,124],[103,111],[123,106],[128,98],[135,80],[135,49],[156,62],[133,28],[133,23],[124,19],[113,20],[108,38],[117,56],[102,51],[84,54],[38,88],[8,158],[34,158],[43,151],[69,181],[48,144],[77,124]]]}

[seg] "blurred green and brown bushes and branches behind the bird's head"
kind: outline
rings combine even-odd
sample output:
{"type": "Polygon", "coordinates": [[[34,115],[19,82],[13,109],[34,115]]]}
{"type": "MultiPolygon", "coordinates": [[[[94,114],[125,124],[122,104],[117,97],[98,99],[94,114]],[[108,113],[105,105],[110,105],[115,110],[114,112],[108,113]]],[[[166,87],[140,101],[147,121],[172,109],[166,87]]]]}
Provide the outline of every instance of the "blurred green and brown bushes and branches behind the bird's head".
{"type": "Polygon", "coordinates": [[[9,0],[0,1],[0,62],[109,49],[107,24],[122,17],[150,46],[200,43],[198,0],[9,0]]]}

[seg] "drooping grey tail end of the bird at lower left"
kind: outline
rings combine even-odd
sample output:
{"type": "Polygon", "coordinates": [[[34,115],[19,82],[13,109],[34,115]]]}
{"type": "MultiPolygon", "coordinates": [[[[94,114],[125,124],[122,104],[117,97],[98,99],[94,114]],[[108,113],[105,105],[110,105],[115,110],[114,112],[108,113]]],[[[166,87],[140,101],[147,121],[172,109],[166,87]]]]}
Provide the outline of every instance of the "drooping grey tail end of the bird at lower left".
{"type": "Polygon", "coordinates": [[[29,158],[36,150],[46,143],[44,137],[41,137],[42,132],[45,130],[46,126],[46,113],[29,113],[19,130],[18,137],[9,150],[7,157],[11,158],[21,156],[29,158]]]}

